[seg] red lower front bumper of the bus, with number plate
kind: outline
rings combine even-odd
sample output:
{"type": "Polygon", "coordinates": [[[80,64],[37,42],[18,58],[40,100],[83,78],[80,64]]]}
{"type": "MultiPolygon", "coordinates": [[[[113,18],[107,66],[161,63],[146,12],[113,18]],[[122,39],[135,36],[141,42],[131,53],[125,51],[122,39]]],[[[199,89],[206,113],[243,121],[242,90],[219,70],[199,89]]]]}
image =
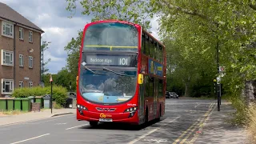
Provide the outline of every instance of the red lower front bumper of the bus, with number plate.
{"type": "Polygon", "coordinates": [[[88,110],[77,109],[77,119],[85,121],[97,121],[97,122],[129,122],[138,123],[138,111],[133,113],[98,113],[88,110]]]}

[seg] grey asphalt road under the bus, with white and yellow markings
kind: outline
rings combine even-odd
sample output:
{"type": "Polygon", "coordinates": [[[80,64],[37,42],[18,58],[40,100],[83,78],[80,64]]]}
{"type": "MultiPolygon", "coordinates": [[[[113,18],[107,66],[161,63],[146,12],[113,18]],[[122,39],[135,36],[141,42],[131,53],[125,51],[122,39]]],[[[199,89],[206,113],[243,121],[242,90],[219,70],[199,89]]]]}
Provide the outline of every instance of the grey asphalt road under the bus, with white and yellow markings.
{"type": "Polygon", "coordinates": [[[166,99],[166,114],[160,122],[135,129],[122,124],[92,128],[78,122],[75,114],[0,126],[1,144],[15,143],[185,143],[216,107],[213,100],[166,99]]]}

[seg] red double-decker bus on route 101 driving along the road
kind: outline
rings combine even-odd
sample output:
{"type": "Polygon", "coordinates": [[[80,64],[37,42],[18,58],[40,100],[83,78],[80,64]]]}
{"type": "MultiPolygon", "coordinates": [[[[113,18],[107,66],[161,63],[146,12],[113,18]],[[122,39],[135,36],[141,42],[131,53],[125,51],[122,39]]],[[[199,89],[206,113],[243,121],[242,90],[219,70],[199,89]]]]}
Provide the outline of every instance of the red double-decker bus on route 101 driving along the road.
{"type": "Polygon", "coordinates": [[[165,46],[142,26],[87,24],[78,65],[78,121],[140,125],[165,114],[165,46]]]}

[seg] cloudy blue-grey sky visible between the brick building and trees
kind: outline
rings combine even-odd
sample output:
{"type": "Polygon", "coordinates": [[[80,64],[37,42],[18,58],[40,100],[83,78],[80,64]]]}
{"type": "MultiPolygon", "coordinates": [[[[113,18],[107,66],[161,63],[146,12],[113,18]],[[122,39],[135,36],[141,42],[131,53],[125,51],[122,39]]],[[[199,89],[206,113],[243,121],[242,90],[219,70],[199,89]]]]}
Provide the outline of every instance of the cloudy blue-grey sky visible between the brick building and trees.
{"type": "MultiPolygon", "coordinates": [[[[35,25],[45,31],[42,41],[51,42],[49,49],[44,51],[44,61],[51,61],[46,65],[49,73],[57,74],[58,70],[66,66],[67,52],[64,47],[71,38],[77,38],[78,30],[82,30],[90,17],[82,15],[82,6],[78,8],[73,18],[68,18],[70,12],[66,10],[66,0],[0,0],[12,9],[22,14],[35,25]]],[[[158,37],[157,18],[151,20],[152,35],[158,37]]]]}

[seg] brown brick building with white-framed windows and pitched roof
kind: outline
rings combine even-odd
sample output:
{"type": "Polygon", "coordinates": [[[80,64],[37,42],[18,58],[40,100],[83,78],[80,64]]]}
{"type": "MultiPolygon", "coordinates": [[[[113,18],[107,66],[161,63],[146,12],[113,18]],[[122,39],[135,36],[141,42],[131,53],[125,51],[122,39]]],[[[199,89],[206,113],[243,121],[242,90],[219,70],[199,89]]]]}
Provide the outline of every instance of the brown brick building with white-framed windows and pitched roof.
{"type": "Polygon", "coordinates": [[[0,2],[0,97],[15,88],[38,86],[44,31],[0,2]]]}

